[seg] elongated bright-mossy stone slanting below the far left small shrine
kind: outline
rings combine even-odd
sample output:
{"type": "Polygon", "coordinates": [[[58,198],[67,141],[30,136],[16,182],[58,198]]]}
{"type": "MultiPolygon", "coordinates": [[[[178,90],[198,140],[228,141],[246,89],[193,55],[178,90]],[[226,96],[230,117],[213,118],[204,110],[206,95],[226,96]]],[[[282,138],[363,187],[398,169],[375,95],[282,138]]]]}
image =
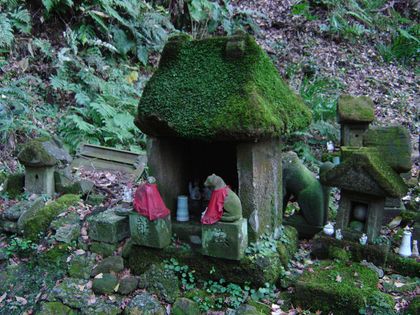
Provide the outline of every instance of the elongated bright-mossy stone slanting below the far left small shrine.
{"type": "Polygon", "coordinates": [[[70,206],[80,201],[78,195],[64,195],[56,201],[34,211],[22,222],[23,235],[31,240],[38,239],[40,233],[48,229],[51,221],[60,213],[66,211],[70,206]]]}

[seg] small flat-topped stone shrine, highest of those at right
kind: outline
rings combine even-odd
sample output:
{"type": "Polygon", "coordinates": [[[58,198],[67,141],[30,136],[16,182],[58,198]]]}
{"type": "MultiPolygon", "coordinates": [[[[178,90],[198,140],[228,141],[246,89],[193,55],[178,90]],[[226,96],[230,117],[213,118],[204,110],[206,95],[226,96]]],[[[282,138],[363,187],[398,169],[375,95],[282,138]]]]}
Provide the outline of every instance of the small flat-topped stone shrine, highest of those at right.
{"type": "Polygon", "coordinates": [[[373,102],[366,96],[342,95],[338,99],[337,119],[341,125],[341,145],[363,146],[363,134],[374,120],[373,102]]]}

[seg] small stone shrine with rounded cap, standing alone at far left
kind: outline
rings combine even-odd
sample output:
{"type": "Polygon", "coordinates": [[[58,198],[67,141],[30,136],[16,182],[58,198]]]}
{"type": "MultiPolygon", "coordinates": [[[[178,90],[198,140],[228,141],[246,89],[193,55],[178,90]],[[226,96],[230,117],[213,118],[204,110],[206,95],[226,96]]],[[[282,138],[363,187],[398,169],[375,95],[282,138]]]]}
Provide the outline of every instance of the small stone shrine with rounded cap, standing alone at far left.
{"type": "Polygon", "coordinates": [[[25,191],[30,194],[52,196],[55,192],[54,171],[58,160],[47,151],[48,143],[48,139],[29,141],[18,155],[25,166],[25,191]]]}

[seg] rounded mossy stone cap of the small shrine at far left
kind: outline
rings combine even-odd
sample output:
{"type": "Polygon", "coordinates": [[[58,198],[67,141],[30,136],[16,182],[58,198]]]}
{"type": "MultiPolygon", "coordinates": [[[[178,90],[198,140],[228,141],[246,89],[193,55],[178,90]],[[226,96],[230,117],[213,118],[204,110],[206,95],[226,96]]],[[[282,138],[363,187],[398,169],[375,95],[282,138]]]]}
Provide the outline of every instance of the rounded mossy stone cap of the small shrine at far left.
{"type": "Polygon", "coordinates": [[[58,163],[56,158],[48,153],[43,143],[48,138],[39,138],[24,144],[19,152],[18,159],[23,165],[28,166],[53,166],[58,163]]]}

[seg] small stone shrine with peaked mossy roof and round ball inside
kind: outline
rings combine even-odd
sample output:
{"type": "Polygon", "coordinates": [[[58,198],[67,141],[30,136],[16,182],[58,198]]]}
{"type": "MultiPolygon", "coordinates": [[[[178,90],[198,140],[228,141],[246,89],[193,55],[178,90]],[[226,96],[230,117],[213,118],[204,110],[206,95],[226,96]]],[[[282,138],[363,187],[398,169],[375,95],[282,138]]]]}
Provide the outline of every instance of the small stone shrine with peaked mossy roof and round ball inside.
{"type": "Polygon", "coordinates": [[[321,182],[341,189],[336,228],[344,238],[368,241],[378,237],[385,198],[407,192],[402,178],[380,158],[375,148],[342,147],[343,162],[321,175],[321,182]]]}

